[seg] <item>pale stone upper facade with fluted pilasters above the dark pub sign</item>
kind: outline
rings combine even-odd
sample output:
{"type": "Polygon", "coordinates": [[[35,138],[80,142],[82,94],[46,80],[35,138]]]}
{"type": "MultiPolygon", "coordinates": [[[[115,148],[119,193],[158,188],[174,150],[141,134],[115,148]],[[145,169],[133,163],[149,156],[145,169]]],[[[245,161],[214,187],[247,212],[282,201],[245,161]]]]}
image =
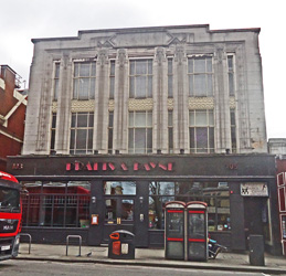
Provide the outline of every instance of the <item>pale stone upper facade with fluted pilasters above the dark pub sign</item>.
{"type": "Polygon", "coordinates": [[[183,25],[32,40],[23,153],[267,152],[258,33],[183,25]],[[85,146],[71,145],[78,113],[93,117],[85,146]]]}

